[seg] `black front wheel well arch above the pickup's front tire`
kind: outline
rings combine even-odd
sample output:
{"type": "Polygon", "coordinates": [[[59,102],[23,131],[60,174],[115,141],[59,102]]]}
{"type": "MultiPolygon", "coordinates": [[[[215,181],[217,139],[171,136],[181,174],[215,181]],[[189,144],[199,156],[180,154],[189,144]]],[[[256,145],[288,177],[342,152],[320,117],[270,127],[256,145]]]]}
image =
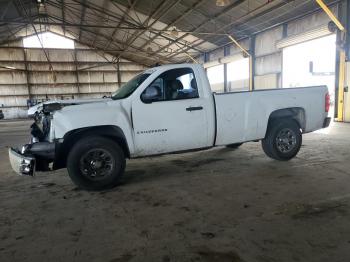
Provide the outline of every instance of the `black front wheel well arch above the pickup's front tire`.
{"type": "Polygon", "coordinates": [[[63,143],[56,144],[55,160],[53,169],[66,167],[67,157],[71,148],[83,137],[102,136],[119,144],[126,157],[130,158],[130,151],[123,131],[117,126],[96,126],[72,130],[64,135],[63,143]]]}

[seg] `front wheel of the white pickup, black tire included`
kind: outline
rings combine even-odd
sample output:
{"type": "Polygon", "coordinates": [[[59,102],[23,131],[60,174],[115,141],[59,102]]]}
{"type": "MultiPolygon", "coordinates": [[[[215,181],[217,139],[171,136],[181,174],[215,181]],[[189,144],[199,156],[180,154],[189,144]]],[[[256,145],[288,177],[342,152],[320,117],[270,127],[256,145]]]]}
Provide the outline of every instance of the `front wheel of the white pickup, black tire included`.
{"type": "Polygon", "coordinates": [[[81,189],[108,189],[115,187],[124,173],[125,155],[113,140],[85,137],[69,152],[67,169],[74,184],[81,189]]]}

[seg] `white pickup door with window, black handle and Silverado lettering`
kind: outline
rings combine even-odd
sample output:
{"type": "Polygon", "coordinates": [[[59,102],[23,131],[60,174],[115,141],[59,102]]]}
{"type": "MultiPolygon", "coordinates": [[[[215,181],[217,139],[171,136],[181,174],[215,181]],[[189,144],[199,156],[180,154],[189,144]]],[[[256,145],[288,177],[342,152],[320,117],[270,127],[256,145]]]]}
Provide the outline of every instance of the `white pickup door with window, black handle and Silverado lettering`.
{"type": "Polygon", "coordinates": [[[162,73],[132,105],[135,155],[209,146],[206,110],[192,69],[162,73]]]}

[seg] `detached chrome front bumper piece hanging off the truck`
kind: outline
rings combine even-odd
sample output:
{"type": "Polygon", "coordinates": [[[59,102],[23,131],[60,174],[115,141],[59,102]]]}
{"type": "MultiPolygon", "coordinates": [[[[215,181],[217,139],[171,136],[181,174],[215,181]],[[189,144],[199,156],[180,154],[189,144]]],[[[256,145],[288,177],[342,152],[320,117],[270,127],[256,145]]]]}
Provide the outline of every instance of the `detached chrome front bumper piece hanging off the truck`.
{"type": "Polygon", "coordinates": [[[9,148],[9,159],[12,169],[19,175],[34,176],[36,160],[34,157],[21,155],[13,148],[9,148]]]}

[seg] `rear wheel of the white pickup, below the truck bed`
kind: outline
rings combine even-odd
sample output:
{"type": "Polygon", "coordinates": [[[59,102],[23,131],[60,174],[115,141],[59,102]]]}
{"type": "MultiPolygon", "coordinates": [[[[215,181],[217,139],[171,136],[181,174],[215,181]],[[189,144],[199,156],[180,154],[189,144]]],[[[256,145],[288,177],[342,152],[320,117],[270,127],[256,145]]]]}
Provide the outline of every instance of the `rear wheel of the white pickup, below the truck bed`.
{"type": "Polygon", "coordinates": [[[293,119],[276,119],[269,123],[261,141],[265,154],[273,159],[288,161],[295,157],[302,144],[302,133],[293,119]]]}

